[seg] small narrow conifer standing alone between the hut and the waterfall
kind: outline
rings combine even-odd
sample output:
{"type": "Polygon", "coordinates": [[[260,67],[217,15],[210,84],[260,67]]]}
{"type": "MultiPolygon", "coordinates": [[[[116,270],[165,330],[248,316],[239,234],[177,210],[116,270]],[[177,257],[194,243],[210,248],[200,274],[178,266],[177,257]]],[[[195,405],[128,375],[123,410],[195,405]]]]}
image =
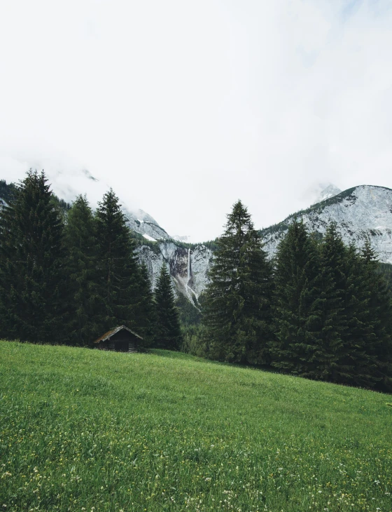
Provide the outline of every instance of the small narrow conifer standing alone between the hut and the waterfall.
{"type": "Polygon", "coordinates": [[[155,346],[160,349],[179,350],[182,342],[179,312],[165,262],[160,269],[155,288],[157,328],[155,346]]]}

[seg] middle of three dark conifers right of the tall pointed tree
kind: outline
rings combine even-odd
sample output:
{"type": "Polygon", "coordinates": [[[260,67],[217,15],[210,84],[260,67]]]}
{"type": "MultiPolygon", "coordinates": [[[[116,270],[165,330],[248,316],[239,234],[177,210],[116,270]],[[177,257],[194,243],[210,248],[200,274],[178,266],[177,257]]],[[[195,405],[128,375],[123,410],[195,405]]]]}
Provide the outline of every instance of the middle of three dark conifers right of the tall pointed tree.
{"type": "Polygon", "coordinates": [[[331,224],[320,246],[323,290],[323,345],[317,354],[318,376],[330,382],[372,386],[372,318],[362,263],[354,248],[346,248],[331,224]]]}

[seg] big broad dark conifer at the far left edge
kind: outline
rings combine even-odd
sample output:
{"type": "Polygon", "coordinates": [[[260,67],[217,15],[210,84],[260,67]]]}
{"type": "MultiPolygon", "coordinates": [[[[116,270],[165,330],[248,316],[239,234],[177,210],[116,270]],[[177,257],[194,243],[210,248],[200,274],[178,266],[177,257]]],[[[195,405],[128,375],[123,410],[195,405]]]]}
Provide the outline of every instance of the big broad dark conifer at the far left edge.
{"type": "Polygon", "coordinates": [[[64,226],[45,174],[29,170],[0,215],[0,336],[61,342],[64,226]]]}

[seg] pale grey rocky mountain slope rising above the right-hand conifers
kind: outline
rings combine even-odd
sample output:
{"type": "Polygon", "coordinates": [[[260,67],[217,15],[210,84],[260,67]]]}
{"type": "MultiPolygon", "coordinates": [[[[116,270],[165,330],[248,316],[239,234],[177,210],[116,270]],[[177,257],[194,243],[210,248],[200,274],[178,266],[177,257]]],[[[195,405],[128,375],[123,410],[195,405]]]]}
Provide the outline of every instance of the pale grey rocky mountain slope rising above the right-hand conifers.
{"type": "Polygon", "coordinates": [[[392,263],[392,190],[386,187],[360,185],[347,189],[321,203],[289,215],[283,222],[260,231],[265,240],[265,250],[274,256],[288,226],[297,217],[310,231],[323,235],[330,222],[337,222],[337,229],[344,243],[363,246],[369,236],[372,248],[381,262],[392,263]]]}

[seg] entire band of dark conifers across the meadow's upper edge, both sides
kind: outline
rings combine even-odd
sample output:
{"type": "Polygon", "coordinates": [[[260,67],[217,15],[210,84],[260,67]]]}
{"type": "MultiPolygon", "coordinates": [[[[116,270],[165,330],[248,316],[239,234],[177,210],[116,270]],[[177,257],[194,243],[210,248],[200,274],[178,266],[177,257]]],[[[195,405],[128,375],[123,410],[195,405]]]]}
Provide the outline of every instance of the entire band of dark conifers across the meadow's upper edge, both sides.
{"type": "Polygon", "coordinates": [[[44,173],[8,189],[0,211],[0,339],[91,346],[116,325],[141,349],[183,351],[309,379],[392,391],[392,302],[386,271],[365,241],[336,224],[320,238],[295,220],[267,259],[237,201],[214,243],[197,307],[176,299],[162,266],[152,290],[132,231],[109,190],[59,205],[44,173]],[[64,208],[65,206],[65,208],[64,208]]]}

